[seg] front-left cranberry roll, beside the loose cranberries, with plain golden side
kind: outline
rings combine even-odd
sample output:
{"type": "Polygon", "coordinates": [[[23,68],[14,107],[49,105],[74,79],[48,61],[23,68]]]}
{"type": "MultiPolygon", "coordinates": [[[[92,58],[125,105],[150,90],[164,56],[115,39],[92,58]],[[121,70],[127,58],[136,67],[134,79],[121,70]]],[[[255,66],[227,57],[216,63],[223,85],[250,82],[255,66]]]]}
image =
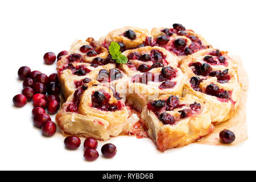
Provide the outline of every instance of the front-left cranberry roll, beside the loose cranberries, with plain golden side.
{"type": "Polygon", "coordinates": [[[128,117],[114,88],[92,81],[68,97],[56,115],[56,123],[67,134],[108,140],[122,132],[128,117]]]}

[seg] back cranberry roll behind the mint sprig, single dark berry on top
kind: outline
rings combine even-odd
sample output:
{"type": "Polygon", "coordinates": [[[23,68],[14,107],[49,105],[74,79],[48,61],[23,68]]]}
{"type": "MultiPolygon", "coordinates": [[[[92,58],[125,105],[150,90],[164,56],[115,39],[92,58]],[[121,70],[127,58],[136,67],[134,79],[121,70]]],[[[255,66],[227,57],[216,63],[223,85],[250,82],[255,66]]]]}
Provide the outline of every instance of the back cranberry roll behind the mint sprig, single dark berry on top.
{"type": "Polygon", "coordinates": [[[151,37],[147,29],[128,26],[109,32],[108,35],[100,38],[100,42],[106,48],[111,42],[117,42],[121,51],[125,51],[125,49],[137,48],[140,45],[150,46],[151,37]]]}

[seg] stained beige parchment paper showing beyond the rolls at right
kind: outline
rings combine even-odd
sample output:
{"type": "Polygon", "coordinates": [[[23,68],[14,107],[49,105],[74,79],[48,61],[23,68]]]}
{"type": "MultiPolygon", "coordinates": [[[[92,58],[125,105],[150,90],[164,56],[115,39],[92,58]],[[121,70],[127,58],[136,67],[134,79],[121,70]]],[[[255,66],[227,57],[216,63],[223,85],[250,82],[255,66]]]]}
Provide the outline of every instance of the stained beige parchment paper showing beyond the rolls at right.
{"type": "MultiPolygon", "coordinates": [[[[242,60],[240,56],[232,56],[234,60],[238,62],[238,79],[242,84],[242,98],[240,105],[237,108],[236,114],[224,123],[216,125],[213,133],[207,135],[205,138],[195,142],[199,144],[209,144],[209,145],[221,145],[219,139],[219,133],[221,130],[228,129],[234,132],[236,135],[236,140],[230,145],[236,145],[245,141],[247,137],[247,123],[246,123],[246,101],[247,101],[247,91],[249,89],[249,78],[242,65],[242,60]]],[[[225,144],[226,145],[226,144],[225,144]]]]}

